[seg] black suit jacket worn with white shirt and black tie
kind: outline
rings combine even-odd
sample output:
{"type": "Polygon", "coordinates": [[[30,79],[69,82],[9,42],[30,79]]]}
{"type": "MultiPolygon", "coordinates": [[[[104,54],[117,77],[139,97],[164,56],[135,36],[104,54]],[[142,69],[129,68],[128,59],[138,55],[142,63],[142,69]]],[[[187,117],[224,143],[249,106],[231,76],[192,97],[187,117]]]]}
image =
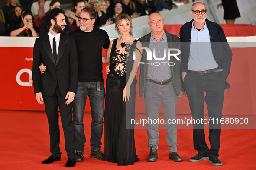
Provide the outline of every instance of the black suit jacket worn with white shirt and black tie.
{"type": "Polygon", "coordinates": [[[44,95],[52,96],[57,81],[62,96],[65,97],[68,91],[76,93],[78,57],[75,39],[61,33],[55,63],[48,34],[37,38],[34,44],[32,79],[35,94],[42,92],[44,95]],[[42,75],[39,70],[41,62],[46,66],[46,71],[42,75]]]}

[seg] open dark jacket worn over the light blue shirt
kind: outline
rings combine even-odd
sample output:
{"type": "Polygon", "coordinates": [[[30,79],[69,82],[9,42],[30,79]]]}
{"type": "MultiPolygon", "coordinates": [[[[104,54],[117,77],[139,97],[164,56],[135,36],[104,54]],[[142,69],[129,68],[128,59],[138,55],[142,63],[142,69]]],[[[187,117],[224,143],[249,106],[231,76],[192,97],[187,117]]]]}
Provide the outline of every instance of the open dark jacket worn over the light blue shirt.
{"type": "MultiPolygon", "coordinates": [[[[191,28],[192,28],[192,19],[190,22],[185,23],[180,29],[180,40],[182,47],[182,57],[181,57],[181,66],[180,71],[188,71],[188,57],[190,53],[190,41],[191,41],[191,28]],[[185,43],[187,42],[187,43],[185,43]]],[[[209,29],[211,49],[214,55],[214,59],[218,64],[220,69],[223,69],[222,76],[227,79],[227,76],[230,73],[230,66],[232,60],[232,51],[227,43],[226,36],[223,29],[220,25],[215,22],[211,22],[208,19],[205,19],[207,27],[209,29]],[[220,42],[220,43],[213,43],[220,42]]],[[[230,84],[225,81],[225,89],[230,88],[230,84]]]]}

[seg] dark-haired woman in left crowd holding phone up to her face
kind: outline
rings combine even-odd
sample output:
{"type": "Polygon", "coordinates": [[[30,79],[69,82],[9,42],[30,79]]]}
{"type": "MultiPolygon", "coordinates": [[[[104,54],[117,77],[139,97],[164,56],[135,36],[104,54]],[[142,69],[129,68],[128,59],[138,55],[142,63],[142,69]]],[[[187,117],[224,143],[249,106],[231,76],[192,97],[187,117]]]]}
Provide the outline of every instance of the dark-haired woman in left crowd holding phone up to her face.
{"type": "Polygon", "coordinates": [[[25,10],[21,15],[21,24],[20,27],[11,31],[11,36],[20,36],[20,37],[38,37],[39,28],[34,25],[34,17],[30,10],[25,10]]]}

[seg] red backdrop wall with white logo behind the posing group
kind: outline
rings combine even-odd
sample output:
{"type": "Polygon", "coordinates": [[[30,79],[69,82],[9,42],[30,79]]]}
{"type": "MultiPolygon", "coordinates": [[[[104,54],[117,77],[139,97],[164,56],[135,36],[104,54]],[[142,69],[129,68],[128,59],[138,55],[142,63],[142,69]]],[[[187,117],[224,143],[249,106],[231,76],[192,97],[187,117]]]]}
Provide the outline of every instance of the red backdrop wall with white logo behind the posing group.
{"type": "MultiPolygon", "coordinates": [[[[165,29],[169,32],[177,33],[180,26],[165,25],[165,29]],[[172,30],[173,28],[175,28],[175,31],[172,30]]],[[[237,25],[237,27],[231,27],[226,25],[223,27],[226,35],[229,36],[245,36],[241,34],[244,34],[244,28],[247,29],[247,27],[252,29],[246,35],[256,35],[255,26],[237,25]],[[241,29],[237,31],[239,28],[243,31],[241,29]]],[[[241,40],[244,40],[246,37],[241,38],[241,40]]],[[[256,36],[254,36],[254,39],[256,39],[256,36]]],[[[231,88],[229,92],[225,91],[224,115],[256,115],[255,107],[253,107],[256,106],[256,69],[254,66],[256,63],[256,46],[242,46],[243,44],[241,44],[241,47],[231,48],[233,60],[230,69],[231,73],[227,79],[231,88]]],[[[45,110],[44,105],[37,103],[32,86],[33,48],[0,47],[0,51],[0,110],[45,110]]],[[[103,55],[105,54],[103,50],[103,55]]],[[[107,64],[103,64],[104,82],[106,80],[106,66],[107,64]]],[[[144,98],[139,98],[138,87],[139,81],[136,92],[136,113],[145,113],[144,98]]],[[[205,113],[207,113],[206,105],[204,108],[206,110],[205,113]]],[[[88,98],[85,111],[91,111],[88,98]]],[[[160,110],[160,113],[162,113],[162,110],[160,110]]],[[[177,114],[191,114],[188,98],[185,96],[178,98],[177,114]]]]}

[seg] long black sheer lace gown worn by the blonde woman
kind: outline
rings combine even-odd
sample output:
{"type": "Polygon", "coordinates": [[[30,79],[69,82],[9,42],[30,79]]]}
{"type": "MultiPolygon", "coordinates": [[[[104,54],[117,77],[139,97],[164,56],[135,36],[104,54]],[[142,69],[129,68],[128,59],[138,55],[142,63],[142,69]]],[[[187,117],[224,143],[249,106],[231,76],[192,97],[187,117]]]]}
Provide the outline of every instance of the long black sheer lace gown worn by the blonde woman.
{"type": "MultiPolygon", "coordinates": [[[[136,42],[133,41],[131,46],[136,47],[136,42]]],[[[129,122],[135,117],[136,76],[130,87],[130,101],[123,101],[123,89],[133,67],[133,50],[126,44],[126,54],[120,54],[116,46],[117,39],[113,41],[110,73],[106,81],[103,160],[118,165],[133,165],[139,161],[135,149],[134,126],[126,129],[126,120],[129,122]]]]}

